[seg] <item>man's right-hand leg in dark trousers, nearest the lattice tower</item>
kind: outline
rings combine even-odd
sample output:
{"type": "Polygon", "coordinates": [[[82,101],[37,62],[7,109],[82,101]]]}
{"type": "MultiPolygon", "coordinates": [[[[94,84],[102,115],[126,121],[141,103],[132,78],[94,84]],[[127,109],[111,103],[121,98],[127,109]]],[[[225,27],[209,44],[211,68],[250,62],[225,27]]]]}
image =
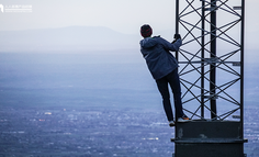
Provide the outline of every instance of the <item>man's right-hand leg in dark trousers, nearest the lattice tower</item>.
{"type": "Polygon", "coordinates": [[[182,117],[184,113],[182,111],[181,86],[178,69],[174,69],[172,72],[170,72],[167,78],[172,89],[177,117],[182,117]]]}

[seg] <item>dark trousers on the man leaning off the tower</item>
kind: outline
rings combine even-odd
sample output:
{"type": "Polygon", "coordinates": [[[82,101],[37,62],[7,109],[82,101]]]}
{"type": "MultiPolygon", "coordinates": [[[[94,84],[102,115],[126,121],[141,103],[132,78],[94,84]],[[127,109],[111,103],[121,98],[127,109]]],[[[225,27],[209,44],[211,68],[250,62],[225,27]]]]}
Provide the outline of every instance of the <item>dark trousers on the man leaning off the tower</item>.
{"type": "Polygon", "coordinates": [[[161,79],[157,79],[156,82],[157,82],[158,90],[160,91],[161,97],[162,97],[162,104],[164,104],[164,109],[167,114],[168,121],[173,121],[168,83],[170,85],[172,93],[173,93],[173,101],[174,101],[174,109],[176,109],[177,117],[182,117],[183,111],[182,111],[182,101],[181,101],[181,86],[180,86],[178,69],[174,69],[173,71],[162,77],[161,79]]]}

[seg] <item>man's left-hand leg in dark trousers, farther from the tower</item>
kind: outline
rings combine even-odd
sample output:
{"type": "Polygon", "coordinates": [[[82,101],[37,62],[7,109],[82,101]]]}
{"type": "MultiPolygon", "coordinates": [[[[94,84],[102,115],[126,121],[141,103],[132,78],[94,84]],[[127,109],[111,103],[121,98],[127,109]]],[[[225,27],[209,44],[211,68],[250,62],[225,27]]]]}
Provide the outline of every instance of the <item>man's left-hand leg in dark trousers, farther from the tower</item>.
{"type": "Polygon", "coordinates": [[[169,122],[173,121],[170,94],[168,90],[168,81],[166,77],[164,77],[161,79],[156,80],[156,82],[157,82],[158,90],[160,91],[161,97],[162,97],[162,104],[164,104],[165,112],[167,114],[167,119],[169,122]]]}

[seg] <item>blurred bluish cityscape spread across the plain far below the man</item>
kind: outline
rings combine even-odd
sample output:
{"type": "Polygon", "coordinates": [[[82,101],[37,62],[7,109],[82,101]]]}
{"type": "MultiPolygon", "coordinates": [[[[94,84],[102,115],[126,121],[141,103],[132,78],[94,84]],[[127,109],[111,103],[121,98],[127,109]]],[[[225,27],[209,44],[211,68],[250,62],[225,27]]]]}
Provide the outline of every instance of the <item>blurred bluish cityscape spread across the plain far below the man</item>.
{"type": "MultiPolygon", "coordinates": [[[[246,109],[245,153],[259,156],[258,110],[246,109]]],[[[0,156],[171,157],[164,113],[1,108],[0,156]]]]}

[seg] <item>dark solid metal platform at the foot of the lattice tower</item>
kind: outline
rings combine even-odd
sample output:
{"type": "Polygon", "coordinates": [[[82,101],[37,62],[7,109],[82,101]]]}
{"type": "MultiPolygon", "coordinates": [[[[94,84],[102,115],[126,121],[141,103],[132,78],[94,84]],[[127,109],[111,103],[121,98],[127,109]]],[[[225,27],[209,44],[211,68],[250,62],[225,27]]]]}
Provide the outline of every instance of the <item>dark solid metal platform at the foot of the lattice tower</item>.
{"type": "Polygon", "coordinates": [[[235,121],[178,123],[174,157],[244,157],[241,125],[235,121]]]}

